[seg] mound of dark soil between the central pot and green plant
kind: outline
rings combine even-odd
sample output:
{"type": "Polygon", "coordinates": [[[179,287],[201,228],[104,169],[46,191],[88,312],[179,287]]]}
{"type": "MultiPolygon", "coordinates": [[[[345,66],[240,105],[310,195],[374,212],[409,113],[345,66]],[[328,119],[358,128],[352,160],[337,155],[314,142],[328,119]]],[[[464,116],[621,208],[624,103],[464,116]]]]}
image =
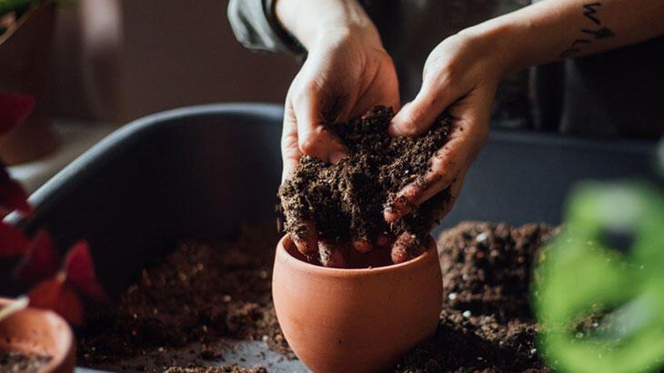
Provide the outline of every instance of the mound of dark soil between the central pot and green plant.
{"type": "Polygon", "coordinates": [[[548,372],[530,309],[531,267],[556,229],[462,223],[443,232],[438,251],[445,294],[436,336],[397,372],[548,372]]]}

